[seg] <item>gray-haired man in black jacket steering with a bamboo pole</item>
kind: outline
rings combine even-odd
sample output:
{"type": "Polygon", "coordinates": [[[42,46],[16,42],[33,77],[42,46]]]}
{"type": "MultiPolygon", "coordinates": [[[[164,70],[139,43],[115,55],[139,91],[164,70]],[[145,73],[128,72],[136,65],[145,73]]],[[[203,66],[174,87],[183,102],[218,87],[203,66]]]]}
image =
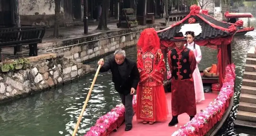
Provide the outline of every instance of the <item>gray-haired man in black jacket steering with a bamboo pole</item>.
{"type": "Polygon", "coordinates": [[[125,131],[130,131],[133,117],[132,98],[140,80],[137,64],[126,58],[125,51],[122,49],[116,50],[114,56],[109,58],[106,63],[99,60],[98,64],[101,64],[100,72],[108,70],[112,72],[115,89],[119,92],[122,103],[125,105],[125,131]]]}

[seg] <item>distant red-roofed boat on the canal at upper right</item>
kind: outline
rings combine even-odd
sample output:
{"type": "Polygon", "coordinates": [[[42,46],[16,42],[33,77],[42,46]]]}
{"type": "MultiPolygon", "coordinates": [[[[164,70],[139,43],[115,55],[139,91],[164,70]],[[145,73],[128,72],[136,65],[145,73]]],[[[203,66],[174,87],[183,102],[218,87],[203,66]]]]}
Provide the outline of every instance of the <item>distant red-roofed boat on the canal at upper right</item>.
{"type": "Polygon", "coordinates": [[[254,27],[250,27],[250,19],[253,17],[251,13],[228,13],[226,12],[225,17],[228,19],[230,24],[234,24],[239,26],[239,30],[235,35],[245,35],[247,32],[253,31],[254,27]],[[248,18],[248,25],[247,27],[243,27],[243,21],[237,20],[236,18],[248,18]]]}

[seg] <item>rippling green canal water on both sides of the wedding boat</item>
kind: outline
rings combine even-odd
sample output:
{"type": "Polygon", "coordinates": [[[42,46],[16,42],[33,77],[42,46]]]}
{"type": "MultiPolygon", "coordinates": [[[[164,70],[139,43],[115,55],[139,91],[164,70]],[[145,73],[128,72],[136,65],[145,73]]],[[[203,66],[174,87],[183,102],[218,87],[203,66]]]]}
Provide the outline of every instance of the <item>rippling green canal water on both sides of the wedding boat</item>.
{"type": "MultiPolygon", "coordinates": [[[[232,41],[232,58],[236,64],[236,91],[234,104],[229,118],[218,135],[232,136],[234,119],[237,114],[242,71],[245,66],[246,53],[256,44],[256,31],[245,36],[235,36],[232,41]]],[[[217,51],[201,47],[202,60],[199,69],[216,64],[217,51]]],[[[136,47],[126,49],[127,57],[136,60],[136,47]]],[[[107,60],[109,56],[103,57],[107,60]]],[[[97,67],[97,61],[90,62],[97,67]]],[[[70,84],[58,86],[33,96],[0,105],[0,132],[3,136],[69,136],[74,130],[84,100],[90,88],[94,74],[75,80],[70,84]]],[[[83,135],[95,121],[116,104],[120,103],[118,93],[114,89],[110,72],[100,73],[94,86],[86,112],[81,121],[78,134],[83,135]],[[85,118],[86,117],[86,118],[85,118]]],[[[245,133],[245,132],[243,132],[245,133]]]]}

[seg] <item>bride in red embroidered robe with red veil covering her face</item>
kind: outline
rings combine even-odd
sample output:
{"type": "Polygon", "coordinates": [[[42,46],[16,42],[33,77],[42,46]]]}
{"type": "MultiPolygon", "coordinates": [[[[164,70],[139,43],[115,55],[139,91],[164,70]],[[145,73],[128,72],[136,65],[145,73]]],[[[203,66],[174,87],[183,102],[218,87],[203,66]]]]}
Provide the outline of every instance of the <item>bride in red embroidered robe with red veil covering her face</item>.
{"type": "Polygon", "coordinates": [[[137,55],[140,73],[137,87],[137,120],[143,120],[143,124],[165,121],[169,113],[163,88],[166,68],[160,50],[160,40],[154,28],[145,29],[141,33],[137,55]]]}

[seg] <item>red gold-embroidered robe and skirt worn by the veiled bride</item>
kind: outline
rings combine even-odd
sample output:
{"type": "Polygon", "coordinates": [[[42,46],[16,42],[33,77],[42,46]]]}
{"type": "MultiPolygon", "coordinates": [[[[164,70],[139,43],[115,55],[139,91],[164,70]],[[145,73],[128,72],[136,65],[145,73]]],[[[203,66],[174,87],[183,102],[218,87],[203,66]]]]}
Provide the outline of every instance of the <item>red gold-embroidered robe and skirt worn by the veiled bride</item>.
{"type": "Polygon", "coordinates": [[[138,51],[137,66],[140,81],[137,87],[137,119],[146,121],[166,120],[167,100],[163,88],[165,61],[161,50],[138,51]]]}

